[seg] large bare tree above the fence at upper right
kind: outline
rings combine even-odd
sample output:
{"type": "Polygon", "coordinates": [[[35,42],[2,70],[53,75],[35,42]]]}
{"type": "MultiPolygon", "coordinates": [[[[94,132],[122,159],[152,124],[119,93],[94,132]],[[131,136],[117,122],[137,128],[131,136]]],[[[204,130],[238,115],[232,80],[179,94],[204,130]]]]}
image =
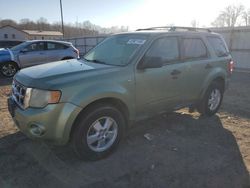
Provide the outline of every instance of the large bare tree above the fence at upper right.
{"type": "Polygon", "coordinates": [[[215,27],[234,27],[239,24],[239,19],[244,12],[243,5],[227,6],[212,23],[215,27]]]}

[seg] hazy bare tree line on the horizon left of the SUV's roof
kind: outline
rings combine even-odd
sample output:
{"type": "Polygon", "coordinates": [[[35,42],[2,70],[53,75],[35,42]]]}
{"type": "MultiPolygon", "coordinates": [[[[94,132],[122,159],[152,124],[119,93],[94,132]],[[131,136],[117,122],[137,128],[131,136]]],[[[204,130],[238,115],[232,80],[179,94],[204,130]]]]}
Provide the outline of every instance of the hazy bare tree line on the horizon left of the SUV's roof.
{"type": "MultiPolygon", "coordinates": [[[[36,21],[28,18],[21,19],[19,22],[11,19],[0,20],[0,27],[5,25],[11,25],[20,30],[62,31],[61,22],[49,23],[47,19],[43,17],[36,21]]],[[[95,36],[99,34],[110,34],[125,31],[128,31],[127,26],[104,28],[92,24],[90,21],[67,23],[64,25],[65,38],[95,36]]]]}

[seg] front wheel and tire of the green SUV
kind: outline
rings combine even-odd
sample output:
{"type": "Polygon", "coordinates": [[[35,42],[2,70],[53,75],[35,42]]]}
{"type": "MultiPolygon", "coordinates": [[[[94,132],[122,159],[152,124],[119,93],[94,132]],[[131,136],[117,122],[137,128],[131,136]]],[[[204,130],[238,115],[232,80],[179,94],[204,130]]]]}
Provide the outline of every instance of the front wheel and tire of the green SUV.
{"type": "Polygon", "coordinates": [[[76,122],[72,143],[76,154],[84,160],[99,160],[118,146],[123,137],[125,120],[113,106],[90,108],[76,122]]]}

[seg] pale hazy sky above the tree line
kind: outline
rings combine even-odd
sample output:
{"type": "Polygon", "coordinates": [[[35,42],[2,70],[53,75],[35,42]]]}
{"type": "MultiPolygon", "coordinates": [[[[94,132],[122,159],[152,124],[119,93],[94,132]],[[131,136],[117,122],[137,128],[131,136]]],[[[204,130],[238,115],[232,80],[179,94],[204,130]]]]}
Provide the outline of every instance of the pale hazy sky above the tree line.
{"type": "MultiPolygon", "coordinates": [[[[242,4],[250,9],[250,0],[62,0],[65,23],[83,22],[102,26],[138,28],[177,25],[209,27],[228,5],[242,4]]],[[[60,21],[60,0],[0,0],[0,19],[22,18],[48,22],[60,21]]]]}

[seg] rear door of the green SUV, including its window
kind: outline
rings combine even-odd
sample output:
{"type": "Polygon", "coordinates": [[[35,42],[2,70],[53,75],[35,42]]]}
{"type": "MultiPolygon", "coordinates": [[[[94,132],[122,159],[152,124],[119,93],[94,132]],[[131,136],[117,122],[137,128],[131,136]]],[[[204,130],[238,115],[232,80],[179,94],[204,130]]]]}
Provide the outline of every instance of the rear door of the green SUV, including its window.
{"type": "Polygon", "coordinates": [[[205,41],[199,36],[181,38],[181,60],[185,70],[182,72],[180,92],[183,93],[183,102],[191,103],[198,99],[213,60],[205,41]]]}

